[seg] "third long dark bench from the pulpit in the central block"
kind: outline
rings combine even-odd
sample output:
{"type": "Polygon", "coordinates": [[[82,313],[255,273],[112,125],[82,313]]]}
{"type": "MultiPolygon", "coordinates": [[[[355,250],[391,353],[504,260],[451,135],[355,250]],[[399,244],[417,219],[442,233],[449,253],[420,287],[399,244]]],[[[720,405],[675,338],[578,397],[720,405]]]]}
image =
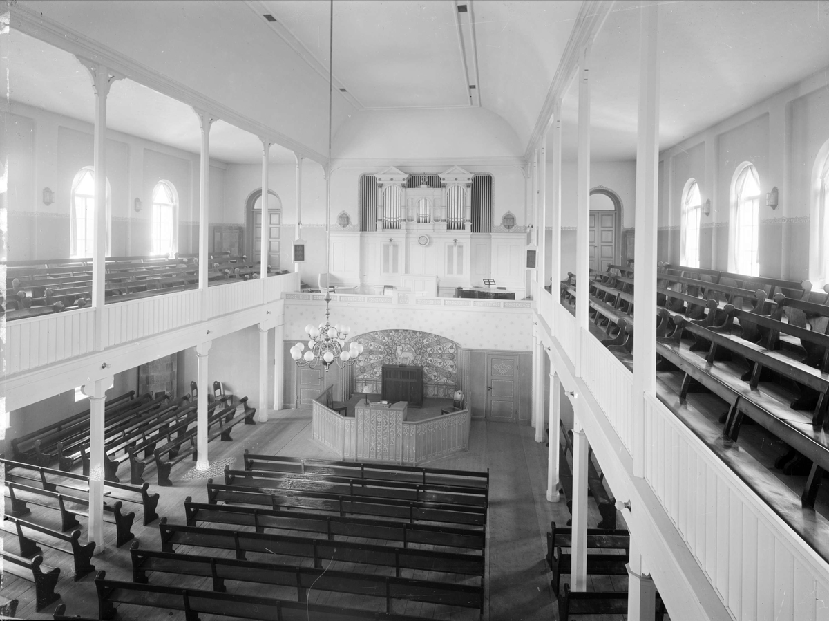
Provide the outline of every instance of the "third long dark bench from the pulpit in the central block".
{"type": "Polygon", "coordinates": [[[487,510],[473,506],[454,506],[436,502],[401,501],[392,498],[365,498],[329,494],[325,491],[300,491],[267,487],[243,487],[219,485],[212,479],[207,483],[207,501],[232,504],[248,504],[312,509],[327,511],[339,516],[383,516],[407,521],[436,521],[455,525],[483,526],[487,522],[487,510]]]}

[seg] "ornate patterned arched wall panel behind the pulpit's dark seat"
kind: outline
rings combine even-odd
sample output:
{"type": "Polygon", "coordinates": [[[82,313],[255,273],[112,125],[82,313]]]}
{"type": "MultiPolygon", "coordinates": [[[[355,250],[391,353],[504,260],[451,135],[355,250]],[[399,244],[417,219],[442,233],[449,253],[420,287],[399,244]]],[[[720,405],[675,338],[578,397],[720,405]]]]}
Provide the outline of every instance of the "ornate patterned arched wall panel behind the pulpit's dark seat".
{"type": "Polygon", "coordinates": [[[423,367],[424,396],[451,399],[458,386],[458,344],[419,330],[378,330],[356,337],[365,348],[354,374],[356,392],[380,393],[384,364],[423,367]]]}

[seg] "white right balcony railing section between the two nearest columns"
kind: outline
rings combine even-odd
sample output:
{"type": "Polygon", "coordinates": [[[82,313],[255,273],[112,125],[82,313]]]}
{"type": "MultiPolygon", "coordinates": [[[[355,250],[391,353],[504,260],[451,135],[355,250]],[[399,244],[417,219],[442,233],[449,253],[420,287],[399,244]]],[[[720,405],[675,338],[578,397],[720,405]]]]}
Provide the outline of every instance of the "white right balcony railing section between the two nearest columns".
{"type": "Polygon", "coordinates": [[[582,369],[588,369],[582,374],[584,384],[587,384],[628,453],[631,452],[633,374],[613,352],[584,330],[581,333],[581,355],[582,369]]]}

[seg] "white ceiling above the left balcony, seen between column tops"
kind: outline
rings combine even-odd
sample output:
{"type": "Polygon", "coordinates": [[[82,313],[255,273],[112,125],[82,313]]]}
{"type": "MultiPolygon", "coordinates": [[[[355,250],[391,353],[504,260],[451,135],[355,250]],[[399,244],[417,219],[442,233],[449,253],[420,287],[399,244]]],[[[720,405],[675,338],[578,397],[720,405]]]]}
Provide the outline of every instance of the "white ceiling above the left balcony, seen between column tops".
{"type": "MultiPolygon", "coordinates": [[[[87,123],[95,122],[89,71],[75,56],[12,30],[3,37],[12,101],[87,123]]],[[[114,81],[107,98],[107,126],[190,153],[201,153],[201,129],[193,110],[131,80],[114,81]]],[[[262,143],[254,134],[217,120],[211,127],[211,159],[258,164],[262,143]]],[[[274,144],[272,162],[293,163],[293,151],[274,144]]]]}

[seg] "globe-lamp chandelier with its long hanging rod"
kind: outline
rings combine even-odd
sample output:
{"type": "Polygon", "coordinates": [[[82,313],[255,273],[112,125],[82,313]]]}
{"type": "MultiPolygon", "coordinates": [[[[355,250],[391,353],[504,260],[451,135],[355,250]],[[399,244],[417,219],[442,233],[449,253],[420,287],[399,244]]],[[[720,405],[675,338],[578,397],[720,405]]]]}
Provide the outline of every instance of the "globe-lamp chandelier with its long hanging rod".
{"type": "Polygon", "coordinates": [[[317,328],[308,324],[305,326],[305,334],[308,335],[308,350],[305,350],[303,343],[297,343],[291,348],[293,358],[299,368],[316,369],[320,364],[327,372],[334,362],[342,369],[347,365],[354,364],[361,355],[363,346],[356,341],[346,348],[346,339],[351,328],[347,325],[331,325],[328,320],[328,305],[331,303],[331,287],[328,286],[328,248],[331,246],[331,119],[332,119],[332,93],[333,93],[333,64],[334,64],[334,1],[331,0],[331,30],[329,33],[328,52],[328,169],[325,175],[326,180],[326,246],[325,246],[325,321],[317,328]]]}

